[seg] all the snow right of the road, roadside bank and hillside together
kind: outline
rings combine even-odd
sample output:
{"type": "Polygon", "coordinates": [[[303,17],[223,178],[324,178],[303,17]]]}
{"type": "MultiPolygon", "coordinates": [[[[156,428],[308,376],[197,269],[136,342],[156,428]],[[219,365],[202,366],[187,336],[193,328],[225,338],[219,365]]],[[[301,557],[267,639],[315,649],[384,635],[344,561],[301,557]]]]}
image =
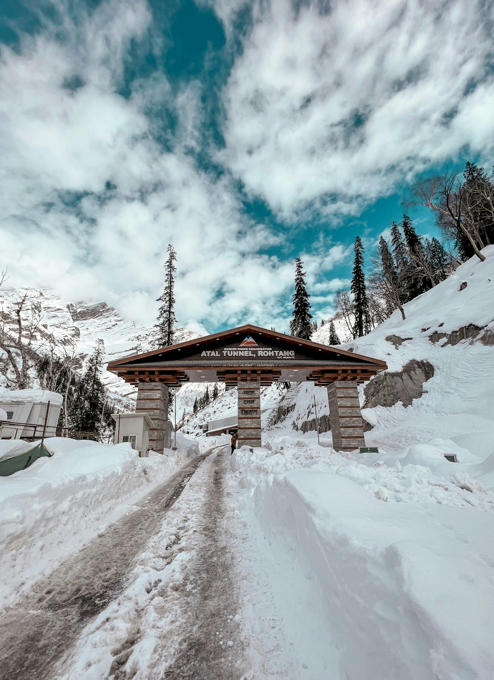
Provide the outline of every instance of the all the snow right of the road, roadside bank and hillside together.
{"type": "Polygon", "coordinates": [[[493,677],[494,246],[483,252],[405,320],[342,345],[389,366],[361,388],[379,454],[290,432],[314,396],[319,415],[327,404],[304,384],[263,447],[232,458],[296,677],[493,677]]]}

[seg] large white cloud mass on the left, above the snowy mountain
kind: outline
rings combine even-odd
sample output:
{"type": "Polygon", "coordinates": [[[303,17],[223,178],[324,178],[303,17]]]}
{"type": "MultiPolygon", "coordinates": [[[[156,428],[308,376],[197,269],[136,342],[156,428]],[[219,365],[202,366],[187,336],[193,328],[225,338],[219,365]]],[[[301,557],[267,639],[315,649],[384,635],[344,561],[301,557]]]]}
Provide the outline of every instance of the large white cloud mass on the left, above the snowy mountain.
{"type": "MultiPolygon", "coordinates": [[[[179,322],[285,327],[294,265],[262,254],[280,237],[243,217],[228,175],[198,170],[187,153],[200,124],[196,85],[173,102],[173,152],[154,140],[148,115],[171,97],[164,76],[139,81],[130,99],[118,94],[130,40],[150,20],[145,2],[110,0],[77,26],[66,16],[64,41],[48,25],[18,54],[3,51],[0,265],[11,286],[105,299],[150,324],[173,243],[179,322]],[[71,90],[75,75],[83,85],[71,90]]],[[[328,254],[319,259],[330,269],[328,254]]]]}

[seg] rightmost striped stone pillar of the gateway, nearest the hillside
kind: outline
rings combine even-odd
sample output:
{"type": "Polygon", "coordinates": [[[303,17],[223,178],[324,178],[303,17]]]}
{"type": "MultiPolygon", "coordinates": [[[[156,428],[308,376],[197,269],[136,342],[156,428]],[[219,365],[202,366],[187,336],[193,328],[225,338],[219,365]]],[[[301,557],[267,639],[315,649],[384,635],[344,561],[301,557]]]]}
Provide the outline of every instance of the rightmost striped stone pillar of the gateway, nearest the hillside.
{"type": "Polygon", "coordinates": [[[336,380],[328,385],[328,405],[333,448],[336,451],[353,451],[365,446],[357,381],[336,380]]]}

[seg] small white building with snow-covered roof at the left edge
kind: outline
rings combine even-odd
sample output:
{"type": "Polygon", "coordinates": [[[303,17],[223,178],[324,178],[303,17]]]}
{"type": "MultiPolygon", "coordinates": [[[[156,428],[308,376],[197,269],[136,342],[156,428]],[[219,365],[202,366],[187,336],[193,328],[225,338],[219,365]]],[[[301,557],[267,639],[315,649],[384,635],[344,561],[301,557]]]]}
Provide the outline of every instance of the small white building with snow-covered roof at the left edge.
{"type": "Polygon", "coordinates": [[[0,409],[6,415],[0,422],[1,439],[41,438],[47,411],[45,437],[54,437],[62,404],[63,396],[57,392],[0,388],[0,409]]]}

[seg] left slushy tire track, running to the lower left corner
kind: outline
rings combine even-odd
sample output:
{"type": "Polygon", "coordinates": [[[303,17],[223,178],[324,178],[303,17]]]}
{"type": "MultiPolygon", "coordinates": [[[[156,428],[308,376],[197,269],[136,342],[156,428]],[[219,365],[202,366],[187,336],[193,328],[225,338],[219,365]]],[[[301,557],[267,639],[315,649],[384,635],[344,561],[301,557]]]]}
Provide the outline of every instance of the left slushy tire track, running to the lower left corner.
{"type": "Polygon", "coordinates": [[[82,628],[122,591],[133,560],[213,450],[184,465],[143,498],[139,509],[107,527],[3,613],[3,677],[51,677],[54,664],[70,650],[82,628]]]}

